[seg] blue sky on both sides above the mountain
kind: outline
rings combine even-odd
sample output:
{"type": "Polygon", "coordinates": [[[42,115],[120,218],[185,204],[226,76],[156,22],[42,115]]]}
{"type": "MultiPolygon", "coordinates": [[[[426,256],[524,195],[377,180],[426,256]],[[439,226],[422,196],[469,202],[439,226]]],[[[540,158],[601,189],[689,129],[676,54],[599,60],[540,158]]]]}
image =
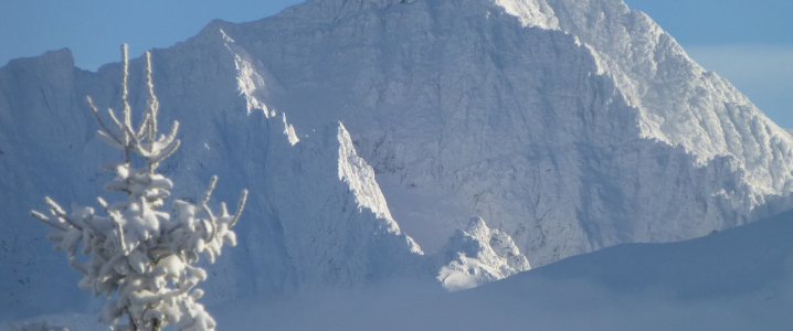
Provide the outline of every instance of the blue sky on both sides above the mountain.
{"type": "MultiPolygon", "coordinates": [[[[0,0],[0,65],[70,47],[95,71],[195,35],[213,19],[253,21],[300,0],[0,0]]],[[[793,128],[793,1],[625,0],[648,13],[707,70],[727,77],[769,117],[793,128]]]]}

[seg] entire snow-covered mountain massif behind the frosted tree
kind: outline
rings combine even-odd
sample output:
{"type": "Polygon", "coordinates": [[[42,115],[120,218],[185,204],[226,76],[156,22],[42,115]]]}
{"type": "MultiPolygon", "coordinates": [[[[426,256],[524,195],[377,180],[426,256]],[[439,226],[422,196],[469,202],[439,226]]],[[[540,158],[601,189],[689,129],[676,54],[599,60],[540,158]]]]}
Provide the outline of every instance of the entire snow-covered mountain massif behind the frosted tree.
{"type": "MultiPolygon", "coordinates": [[[[182,128],[160,168],[173,196],[215,173],[221,200],[251,192],[209,303],[437,281],[470,217],[511,245],[474,265],[519,271],[484,253],[537,267],[791,206],[793,137],[620,0],[309,0],[152,58],[162,120],[182,128]]],[[[28,215],[105,194],[96,164],[118,157],[82,100],[117,109],[119,76],[67,50],[0,68],[0,319],[93,305],[28,215]]]]}

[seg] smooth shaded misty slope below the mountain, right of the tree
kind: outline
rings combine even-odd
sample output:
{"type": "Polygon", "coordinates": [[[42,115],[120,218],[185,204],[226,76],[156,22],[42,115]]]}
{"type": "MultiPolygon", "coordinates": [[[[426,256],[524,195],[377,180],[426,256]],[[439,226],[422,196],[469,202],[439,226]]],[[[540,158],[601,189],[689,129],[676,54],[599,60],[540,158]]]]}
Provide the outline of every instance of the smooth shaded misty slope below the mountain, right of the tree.
{"type": "Polygon", "coordinates": [[[791,237],[793,212],[687,242],[618,245],[453,293],[402,284],[215,310],[230,330],[786,330],[791,237]]]}

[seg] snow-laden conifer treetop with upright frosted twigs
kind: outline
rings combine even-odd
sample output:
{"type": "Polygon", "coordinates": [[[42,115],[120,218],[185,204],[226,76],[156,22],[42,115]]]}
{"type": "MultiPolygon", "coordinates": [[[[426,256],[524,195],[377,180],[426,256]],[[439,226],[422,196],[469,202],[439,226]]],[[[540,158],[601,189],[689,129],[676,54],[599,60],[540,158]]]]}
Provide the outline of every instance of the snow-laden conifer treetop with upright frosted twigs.
{"type": "Polygon", "coordinates": [[[46,197],[50,216],[33,211],[33,217],[54,229],[47,239],[55,249],[65,250],[70,266],[83,274],[80,288],[94,296],[104,293],[108,301],[99,321],[115,324],[123,316],[129,323],[110,327],[110,330],[160,330],[175,324],[175,330],[214,330],[215,322],[195,302],[203,291],[194,288],[207,279],[207,273],[193,266],[203,253],[210,263],[221,253],[223,243],[236,245],[231,227],[240,218],[247,191],[242,191],[236,213],[229,214],[222,203],[220,213],[207,204],[216,181],[213,177],[203,199],[198,204],[173,201],[176,220],[170,213],[158,210],[170,193],[172,182],[156,173],[157,166],[179,147],[176,139],[179,122],[170,132],[157,135],[159,104],[151,82],[151,55],[146,52],[147,108],[135,128],[127,103],[127,45],[121,46],[121,104],[123,117],[108,109],[109,126],[103,120],[91,97],[86,97],[94,117],[102,127],[98,137],[124,153],[120,162],[103,163],[101,168],[116,174],[105,185],[110,192],[124,192],[127,199],[107,203],[96,201],[106,216],[94,209],[72,205],[67,214],[59,204],[46,197]],[[130,158],[138,154],[146,163],[133,168],[130,158]],[[82,253],[89,256],[78,261],[74,256],[82,244],[82,253]]]}

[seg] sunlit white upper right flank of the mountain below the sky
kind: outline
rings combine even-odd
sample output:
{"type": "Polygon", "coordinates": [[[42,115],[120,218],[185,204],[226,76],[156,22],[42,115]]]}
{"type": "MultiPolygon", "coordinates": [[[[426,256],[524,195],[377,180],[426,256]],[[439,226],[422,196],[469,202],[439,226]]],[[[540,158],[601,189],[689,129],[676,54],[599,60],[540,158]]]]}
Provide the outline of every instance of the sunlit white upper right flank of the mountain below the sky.
{"type": "MultiPolygon", "coordinates": [[[[540,0],[541,1],[541,0],[540,0]]],[[[550,0],[559,29],[596,53],[628,103],[642,137],[683,145],[700,163],[732,156],[759,194],[790,192],[793,137],[727,79],[707,72],[645,13],[620,0],[550,0]]],[[[527,24],[542,22],[520,15],[527,24]]]]}

